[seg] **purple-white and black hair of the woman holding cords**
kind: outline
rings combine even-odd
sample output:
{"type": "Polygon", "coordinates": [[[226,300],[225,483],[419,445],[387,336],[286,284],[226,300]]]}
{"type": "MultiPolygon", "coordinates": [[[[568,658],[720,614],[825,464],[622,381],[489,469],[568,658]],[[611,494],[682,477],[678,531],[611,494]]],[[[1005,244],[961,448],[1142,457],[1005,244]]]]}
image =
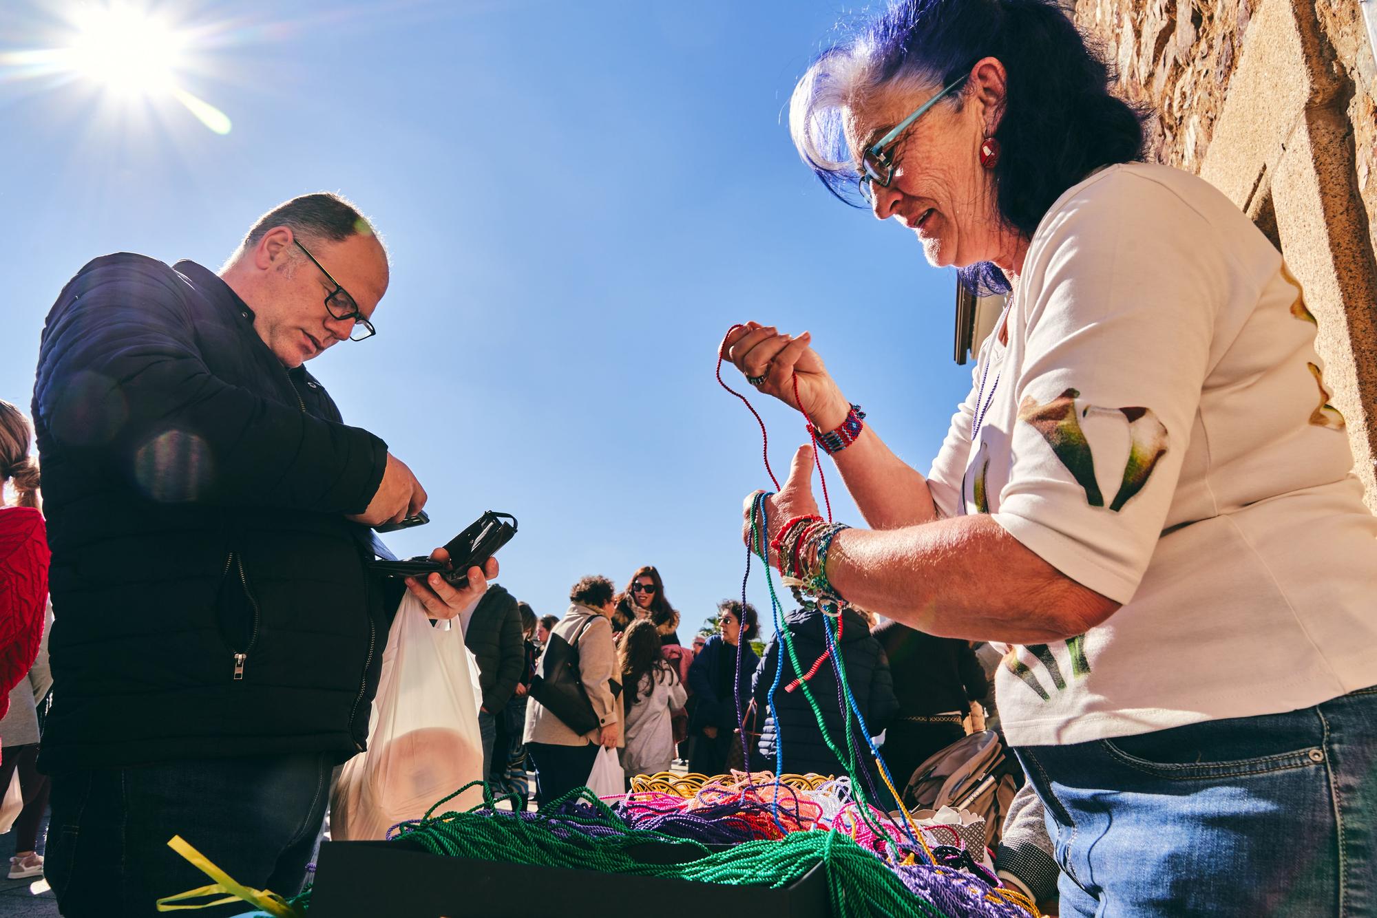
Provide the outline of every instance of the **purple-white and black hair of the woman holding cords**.
{"type": "MultiPolygon", "coordinates": [[[[799,80],[789,132],[803,161],[833,194],[863,206],[845,110],[888,91],[916,103],[997,58],[1008,74],[994,139],[996,204],[1031,237],[1042,215],[1096,168],[1143,156],[1143,116],[1110,92],[1111,72],[1056,0],[902,0],[832,45],[799,80]]],[[[939,105],[957,110],[969,89],[939,105]]],[[[914,106],[916,107],[916,106],[914,106]]],[[[993,264],[961,268],[975,293],[1002,293],[993,264]]]]}

